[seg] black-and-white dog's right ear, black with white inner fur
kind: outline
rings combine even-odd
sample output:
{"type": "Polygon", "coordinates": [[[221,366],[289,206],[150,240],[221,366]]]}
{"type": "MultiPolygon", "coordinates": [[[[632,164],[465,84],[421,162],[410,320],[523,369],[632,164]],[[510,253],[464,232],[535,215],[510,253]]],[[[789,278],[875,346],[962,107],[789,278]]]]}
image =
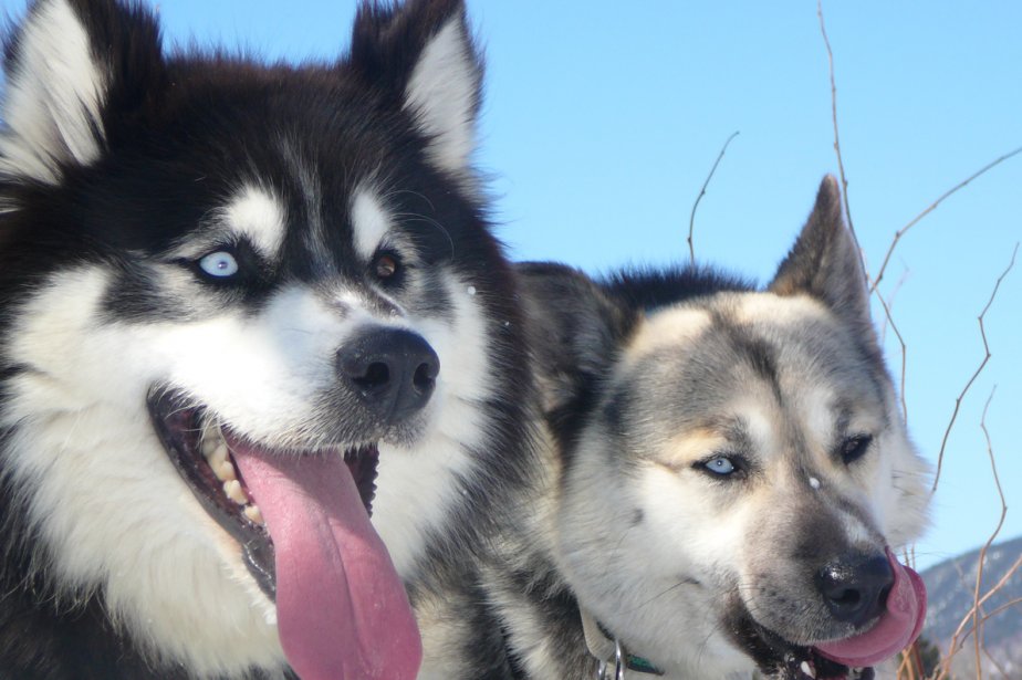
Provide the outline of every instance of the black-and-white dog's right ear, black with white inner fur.
{"type": "Polygon", "coordinates": [[[461,0],[366,3],[355,19],[352,66],[408,111],[429,138],[432,164],[469,176],[476,148],[482,60],[461,0]]]}

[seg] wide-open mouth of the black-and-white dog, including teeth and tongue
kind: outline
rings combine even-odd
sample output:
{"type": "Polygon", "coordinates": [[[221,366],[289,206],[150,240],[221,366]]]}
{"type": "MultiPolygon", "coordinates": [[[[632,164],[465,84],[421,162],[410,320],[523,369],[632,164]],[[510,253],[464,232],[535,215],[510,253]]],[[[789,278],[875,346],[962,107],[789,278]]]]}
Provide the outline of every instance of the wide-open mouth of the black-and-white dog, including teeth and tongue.
{"type": "Polygon", "coordinates": [[[375,443],[278,450],[173,390],[153,390],[147,404],[170,461],[275,603],[281,645],[301,677],[417,667],[415,617],[369,523],[375,443]]]}

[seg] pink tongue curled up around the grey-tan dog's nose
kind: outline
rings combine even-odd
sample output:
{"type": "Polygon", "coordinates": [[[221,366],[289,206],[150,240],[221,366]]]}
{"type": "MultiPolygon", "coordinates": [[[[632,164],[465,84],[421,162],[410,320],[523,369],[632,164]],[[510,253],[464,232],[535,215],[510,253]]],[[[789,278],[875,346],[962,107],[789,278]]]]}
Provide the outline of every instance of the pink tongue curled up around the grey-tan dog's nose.
{"type": "Polygon", "coordinates": [[[895,582],[887,596],[887,610],[876,626],[845,640],[816,646],[821,656],[852,668],[873,666],[911,645],[926,618],[926,586],[911,568],[900,564],[887,548],[895,582]]]}

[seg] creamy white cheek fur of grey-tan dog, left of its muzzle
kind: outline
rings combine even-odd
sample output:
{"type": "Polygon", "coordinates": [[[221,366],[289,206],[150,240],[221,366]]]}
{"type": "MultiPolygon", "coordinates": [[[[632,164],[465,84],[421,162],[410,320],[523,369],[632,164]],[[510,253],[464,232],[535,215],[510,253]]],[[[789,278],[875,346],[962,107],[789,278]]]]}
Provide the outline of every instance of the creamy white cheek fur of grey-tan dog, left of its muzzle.
{"type": "Polygon", "coordinates": [[[678,472],[627,462],[635,442],[601,425],[584,432],[562,491],[559,562],[580,606],[681,677],[751,670],[716,606],[737,582],[728,546],[744,535],[743,512],[678,472]]]}

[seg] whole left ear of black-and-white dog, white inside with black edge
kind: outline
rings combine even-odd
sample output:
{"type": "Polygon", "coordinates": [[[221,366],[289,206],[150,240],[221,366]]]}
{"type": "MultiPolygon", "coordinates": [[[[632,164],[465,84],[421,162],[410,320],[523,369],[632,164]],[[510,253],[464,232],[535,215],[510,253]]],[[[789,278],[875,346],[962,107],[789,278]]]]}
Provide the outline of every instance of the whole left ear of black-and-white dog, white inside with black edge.
{"type": "Polygon", "coordinates": [[[159,31],[113,0],[36,0],[8,38],[0,176],[56,184],[95,163],[161,72],[159,31]]]}

